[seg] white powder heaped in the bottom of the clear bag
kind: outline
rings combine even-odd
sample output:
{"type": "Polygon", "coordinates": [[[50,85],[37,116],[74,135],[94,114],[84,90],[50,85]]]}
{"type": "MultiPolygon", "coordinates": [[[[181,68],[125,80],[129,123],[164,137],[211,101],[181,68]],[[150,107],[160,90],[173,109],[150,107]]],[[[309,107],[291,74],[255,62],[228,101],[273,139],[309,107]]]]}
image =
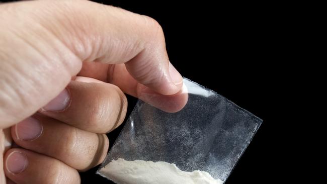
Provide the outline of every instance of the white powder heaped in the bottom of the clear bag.
{"type": "Polygon", "coordinates": [[[100,173],[118,184],[222,184],[208,172],[186,172],[175,164],[144,160],[112,160],[100,173]]]}

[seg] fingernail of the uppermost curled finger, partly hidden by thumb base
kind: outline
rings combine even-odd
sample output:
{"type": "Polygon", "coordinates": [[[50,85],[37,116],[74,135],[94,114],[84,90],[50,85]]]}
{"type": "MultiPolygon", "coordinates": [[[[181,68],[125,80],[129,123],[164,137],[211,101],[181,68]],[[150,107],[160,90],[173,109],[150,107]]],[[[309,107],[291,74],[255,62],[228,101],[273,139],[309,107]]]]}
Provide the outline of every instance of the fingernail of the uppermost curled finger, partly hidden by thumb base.
{"type": "Polygon", "coordinates": [[[61,91],[61,93],[42,108],[45,111],[63,111],[70,103],[70,97],[67,89],[61,91]]]}

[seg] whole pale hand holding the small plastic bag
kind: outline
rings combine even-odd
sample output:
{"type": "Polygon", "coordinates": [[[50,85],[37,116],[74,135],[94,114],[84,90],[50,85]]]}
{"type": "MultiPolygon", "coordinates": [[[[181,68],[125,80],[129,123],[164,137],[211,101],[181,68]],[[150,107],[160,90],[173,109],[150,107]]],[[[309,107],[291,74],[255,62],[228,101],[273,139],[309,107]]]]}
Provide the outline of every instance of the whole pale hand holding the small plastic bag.
{"type": "Polygon", "coordinates": [[[137,97],[186,102],[153,19],[88,1],[0,4],[0,183],[80,183],[137,97]],[[14,147],[13,147],[14,145],[14,147]]]}

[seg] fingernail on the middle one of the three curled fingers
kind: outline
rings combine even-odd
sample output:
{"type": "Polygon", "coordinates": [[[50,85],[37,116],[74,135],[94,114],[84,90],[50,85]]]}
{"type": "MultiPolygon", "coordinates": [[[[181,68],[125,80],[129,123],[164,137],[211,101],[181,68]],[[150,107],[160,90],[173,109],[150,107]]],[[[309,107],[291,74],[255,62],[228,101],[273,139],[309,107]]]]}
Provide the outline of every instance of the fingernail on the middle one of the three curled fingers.
{"type": "Polygon", "coordinates": [[[15,130],[17,139],[31,141],[41,135],[43,126],[39,120],[29,117],[18,123],[15,130]]]}

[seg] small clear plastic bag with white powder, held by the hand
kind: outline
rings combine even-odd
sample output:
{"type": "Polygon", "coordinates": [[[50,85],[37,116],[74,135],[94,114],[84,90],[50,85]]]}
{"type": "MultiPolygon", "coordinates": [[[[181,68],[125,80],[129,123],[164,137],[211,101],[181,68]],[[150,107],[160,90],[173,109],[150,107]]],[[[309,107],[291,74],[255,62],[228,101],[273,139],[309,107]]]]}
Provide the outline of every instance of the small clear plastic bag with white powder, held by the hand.
{"type": "Polygon", "coordinates": [[[177,113],[138,101],[98,174],[117,184],[223,183],[262,120],[184,79],[177,113]]]}

